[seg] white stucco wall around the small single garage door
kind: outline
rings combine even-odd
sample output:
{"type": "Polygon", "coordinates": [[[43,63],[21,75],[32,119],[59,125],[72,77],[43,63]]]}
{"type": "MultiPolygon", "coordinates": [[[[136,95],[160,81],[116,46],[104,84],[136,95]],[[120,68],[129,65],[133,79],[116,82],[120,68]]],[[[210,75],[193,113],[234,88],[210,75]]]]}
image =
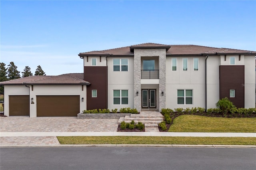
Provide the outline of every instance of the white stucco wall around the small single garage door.
{"type": "Polygon", "coordinates": [[[4,86],[4,115],[9,116],[9,96],[29,95],[29,88],[25,85],[5,85],[4,86]]]}

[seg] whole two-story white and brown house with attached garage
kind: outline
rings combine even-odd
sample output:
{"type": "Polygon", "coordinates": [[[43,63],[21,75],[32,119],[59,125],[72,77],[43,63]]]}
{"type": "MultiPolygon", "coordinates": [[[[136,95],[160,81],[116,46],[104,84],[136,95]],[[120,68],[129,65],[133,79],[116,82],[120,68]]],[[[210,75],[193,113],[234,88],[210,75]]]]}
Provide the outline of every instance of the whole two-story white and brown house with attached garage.
{"type": "Polygon", "coordinates": [[[83,110],[124,107],[209,109],[224,97],[236,107],[255,107],[256,51],[143,43],[78,55],[84,73],[1,82],[4,115],[76,116],[83,110]]]}

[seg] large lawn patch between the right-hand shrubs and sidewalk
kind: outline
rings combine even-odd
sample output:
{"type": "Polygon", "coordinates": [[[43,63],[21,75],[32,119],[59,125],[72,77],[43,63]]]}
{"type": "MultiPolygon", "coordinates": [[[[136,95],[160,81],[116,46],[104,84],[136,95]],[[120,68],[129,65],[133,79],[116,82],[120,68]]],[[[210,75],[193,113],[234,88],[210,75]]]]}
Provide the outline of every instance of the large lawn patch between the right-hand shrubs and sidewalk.
{"type": "Polygon", "coordinates": [[[176,117],[168,132],[256,132],[256,118],[176,117]]]}

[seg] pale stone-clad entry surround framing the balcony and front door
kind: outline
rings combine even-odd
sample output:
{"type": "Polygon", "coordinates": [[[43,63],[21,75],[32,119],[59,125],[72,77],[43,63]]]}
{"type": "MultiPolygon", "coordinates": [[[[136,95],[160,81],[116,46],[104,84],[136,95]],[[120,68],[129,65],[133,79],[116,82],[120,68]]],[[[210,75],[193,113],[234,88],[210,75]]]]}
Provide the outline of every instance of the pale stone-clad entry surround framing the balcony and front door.
{"type": "Polygon", "coordinates": [[[134,49],[134,108],[141,110],[141,57],[159,56],[159,111],[166,105],[166,49],[134,49]],[[139,95],[136,95],[136,92],[139,95]],[[164,96],[162,96],[162,91],[164,96]]]}

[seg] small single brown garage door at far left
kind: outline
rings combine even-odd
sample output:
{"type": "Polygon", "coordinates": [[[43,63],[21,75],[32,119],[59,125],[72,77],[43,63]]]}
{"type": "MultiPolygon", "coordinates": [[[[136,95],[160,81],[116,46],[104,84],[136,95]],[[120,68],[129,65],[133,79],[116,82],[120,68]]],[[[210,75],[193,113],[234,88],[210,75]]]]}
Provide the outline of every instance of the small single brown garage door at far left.
{"type": "Polygon", "coordinates": [[[10,116],[29,116],[29,95],[9,96],[10,116]]]}

